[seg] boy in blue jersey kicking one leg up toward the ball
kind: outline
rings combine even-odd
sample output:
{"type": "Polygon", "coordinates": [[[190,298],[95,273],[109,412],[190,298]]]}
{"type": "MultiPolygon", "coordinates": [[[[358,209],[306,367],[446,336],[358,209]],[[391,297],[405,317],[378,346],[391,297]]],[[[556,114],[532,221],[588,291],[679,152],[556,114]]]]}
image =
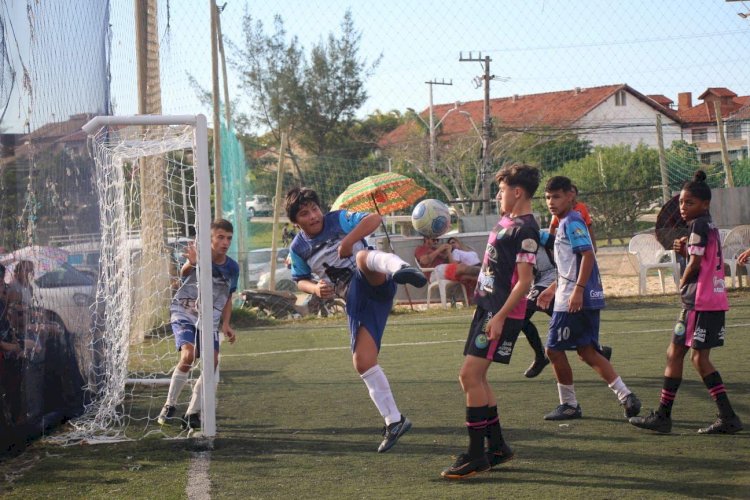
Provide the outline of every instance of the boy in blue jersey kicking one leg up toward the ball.
{"type": "Polygon", "coordinates": [[[396,406],[378,364],[383,330],[396,284],[423,287],[427,278],[397,255],[367,248],[364,238],[380,225],[380,215],[346,210],[324,215],[310,188],[292,188],[285,202],[289,220],[300,228],[289,247],[292,279],[303,292],[346,300],[352,362],[385,419],[378,452],[388,451],[411,422],[396,406]]]}

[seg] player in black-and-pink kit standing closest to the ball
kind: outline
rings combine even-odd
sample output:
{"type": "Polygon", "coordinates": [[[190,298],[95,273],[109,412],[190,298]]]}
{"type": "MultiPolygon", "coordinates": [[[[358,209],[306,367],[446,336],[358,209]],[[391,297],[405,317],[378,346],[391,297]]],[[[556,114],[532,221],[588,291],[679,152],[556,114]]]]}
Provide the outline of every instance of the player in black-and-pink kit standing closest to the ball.
{"type": "Polygon", "coordinates": [[[495,175],[503,215],[490,232],[477,278],[477,309],[464,347],[459,373],[466,395],[469,449],[443,470],[447,479],[461,479],[513,458],[500,427],[497,400],[487,372],[493,362],[508,364],[526,315],[526,294],[534,280],[539,225],[531,213],[531,197],[539,171],[528,165],[505,167],[495,175]],[[485,438],[488,449],[485,450],[485,438]]]}

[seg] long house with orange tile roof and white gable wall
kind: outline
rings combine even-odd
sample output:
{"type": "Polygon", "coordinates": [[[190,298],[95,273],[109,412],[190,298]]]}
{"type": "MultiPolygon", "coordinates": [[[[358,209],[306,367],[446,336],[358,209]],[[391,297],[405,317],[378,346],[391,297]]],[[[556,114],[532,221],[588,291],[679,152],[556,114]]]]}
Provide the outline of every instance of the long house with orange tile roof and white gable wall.
{"type": "MultiPolygon", "coordinates": [[[[657,115],[662,115],[667,146],[682,138],[680,118],[669,102],[664,96],[653,98],[627,84],[617,84],[491,99],[490,116],[496,138],[505,132],[570,131],[594,146],[635,147],[643,143],[656,147],[657,115]]],[[[438,141],[450,143],[459,137],[476,136],[472,121],[481,124],[483,107],[481,100],[434,106],[436,119],[444,117],[438,141]]],[[[420,116],[427,121],[429,109],[420,116]]],[[[380,147],[387,149],[413,142],[418,130],[418,124],[405,123],[386,134],[379,142],[380,147]]]]}

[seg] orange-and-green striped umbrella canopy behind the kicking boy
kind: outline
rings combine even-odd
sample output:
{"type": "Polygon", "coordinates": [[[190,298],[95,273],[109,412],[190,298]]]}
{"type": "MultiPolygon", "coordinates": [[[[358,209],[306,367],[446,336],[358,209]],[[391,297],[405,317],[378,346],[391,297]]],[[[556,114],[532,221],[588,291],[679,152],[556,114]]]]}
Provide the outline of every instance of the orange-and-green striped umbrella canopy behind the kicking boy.
{"type": "Polygon", "coordinates": [[[410,207],[427,190],[414,179],[393,172],[371,175],[350,184],[331,205],[332,210],[389,214],[410,207]]]}

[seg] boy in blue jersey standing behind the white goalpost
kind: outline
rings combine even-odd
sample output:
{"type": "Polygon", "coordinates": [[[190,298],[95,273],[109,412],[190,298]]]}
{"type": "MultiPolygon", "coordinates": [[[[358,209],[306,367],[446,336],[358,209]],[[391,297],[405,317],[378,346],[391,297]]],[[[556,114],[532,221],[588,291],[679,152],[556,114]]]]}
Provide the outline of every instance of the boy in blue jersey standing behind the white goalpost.
{"type": "MultiPolygon", "coordinates": [[[[232,294],[237,290],[240,276],[240,266],[227,255],[232,243],[234,227],[225,219],[216,219],[211,223],[211,276],[213,282],[213,338],[214,338],[214,369],[219,364],[219,328],[230,344],[234,343],[234,330],[229,325],[232,316],[232,294]]],[[[187,260],[180,270],[182,284],[172,299],[169,308],[171,313],[172,332],[180,353],[180,360],[172,372],[169,383],[167,401],[164,403],[157,421],[164,425],[174,418],[177,399],[188,381],[188,372],[193,366],[195,358],[200,357],[200,331],[198,324],[198,273],[196,272],[197,253],[194,244],[186,249],[187,260]]],[[[201,392],[203,390],[203,375],[193,386],[193,396],[190,399],[185,416],[182,417],[182,427],[189,429],[200,428],[200,411],[202,407],[201,392]]]]}

